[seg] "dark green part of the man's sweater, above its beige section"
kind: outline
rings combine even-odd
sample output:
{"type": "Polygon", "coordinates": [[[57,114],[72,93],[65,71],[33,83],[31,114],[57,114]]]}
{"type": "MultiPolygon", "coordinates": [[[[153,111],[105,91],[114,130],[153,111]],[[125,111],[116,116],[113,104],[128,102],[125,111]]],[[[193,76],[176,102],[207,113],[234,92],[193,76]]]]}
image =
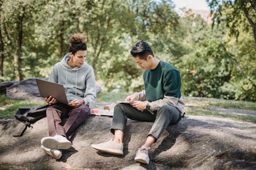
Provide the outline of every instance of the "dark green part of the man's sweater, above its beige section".
{"type": "Polygon", "coordinates": [[[164,95],[181,98],[180,72],[169,63],[160,61],[155,69],[145,70],[143,80],[147,101],[163,99],[164,95]]]}

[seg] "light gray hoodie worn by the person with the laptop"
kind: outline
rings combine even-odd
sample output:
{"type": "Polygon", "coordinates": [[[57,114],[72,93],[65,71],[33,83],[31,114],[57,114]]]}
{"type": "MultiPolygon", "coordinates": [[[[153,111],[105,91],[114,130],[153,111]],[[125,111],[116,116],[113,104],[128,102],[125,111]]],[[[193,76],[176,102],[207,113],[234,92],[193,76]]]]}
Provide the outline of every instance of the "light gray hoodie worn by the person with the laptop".
{"type": "Polygon", "coordinates": [[[92,66],[83,62],[81,67],[71,68],[68,64],[69,53],[53,66],[49,82],[62,84],[66,90],[68,102],[74,99],[90,105],[96,100],[96,83],[92,66]]]}

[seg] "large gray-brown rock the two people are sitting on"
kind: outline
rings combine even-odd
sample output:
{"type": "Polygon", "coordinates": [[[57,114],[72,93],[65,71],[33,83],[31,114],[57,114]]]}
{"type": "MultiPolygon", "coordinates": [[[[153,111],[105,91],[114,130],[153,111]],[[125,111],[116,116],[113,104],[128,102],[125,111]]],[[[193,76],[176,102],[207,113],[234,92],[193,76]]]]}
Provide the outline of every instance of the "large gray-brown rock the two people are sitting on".
{"type": "Polygon", "coordinates": [[[0,119],[0,169],[256,169],[256,124],[212,116],[188,115],[169,126],[150,150],[150,164],[134,161],[153,123],[128,120],[124,155],[94,150],[93,143],[108,141],[112,117],[90,116],[77,130],[73,145],[60,160],[40,149],[48,136],[43,118],[19,134],[24,124],[13,117],[0,119]]]}

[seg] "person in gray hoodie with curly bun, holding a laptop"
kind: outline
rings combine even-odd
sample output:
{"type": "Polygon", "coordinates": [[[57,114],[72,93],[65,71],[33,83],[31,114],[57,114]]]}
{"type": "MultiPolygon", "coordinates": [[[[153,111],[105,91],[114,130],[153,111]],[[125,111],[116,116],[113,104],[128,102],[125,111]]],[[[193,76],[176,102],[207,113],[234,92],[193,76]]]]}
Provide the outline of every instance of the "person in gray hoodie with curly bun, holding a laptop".
{"type": "Polygon", "coordinates": [[[70,38],[69,53],[54,65],[49,81],[65,87],[69,104],[61,104],[49,96],[45,101],[51,105],[47,111],[49,137],[41,139],[41,148],[46,154],[59,159],[61,149],[71,147],[70,139],[80,124],[90,115],[89,105],[96,100],[96,83],[93,68],[84,60],[87,45],[82,35],[70,38]],[[67,117],[63,124],[62,117],[67,117]]]}

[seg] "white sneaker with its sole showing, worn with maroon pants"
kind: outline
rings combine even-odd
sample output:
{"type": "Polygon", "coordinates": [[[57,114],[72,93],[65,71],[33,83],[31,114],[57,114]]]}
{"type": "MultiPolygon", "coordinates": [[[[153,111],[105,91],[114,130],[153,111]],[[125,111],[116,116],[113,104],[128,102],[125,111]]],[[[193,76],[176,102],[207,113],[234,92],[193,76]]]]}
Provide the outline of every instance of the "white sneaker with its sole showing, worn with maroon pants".
{"type": "Polygon", "coordinates": [[[41,139],[41,144],[49,149],[67,150],[71,147],[71,141],[62,135],[48,136],[41,139]]]}

